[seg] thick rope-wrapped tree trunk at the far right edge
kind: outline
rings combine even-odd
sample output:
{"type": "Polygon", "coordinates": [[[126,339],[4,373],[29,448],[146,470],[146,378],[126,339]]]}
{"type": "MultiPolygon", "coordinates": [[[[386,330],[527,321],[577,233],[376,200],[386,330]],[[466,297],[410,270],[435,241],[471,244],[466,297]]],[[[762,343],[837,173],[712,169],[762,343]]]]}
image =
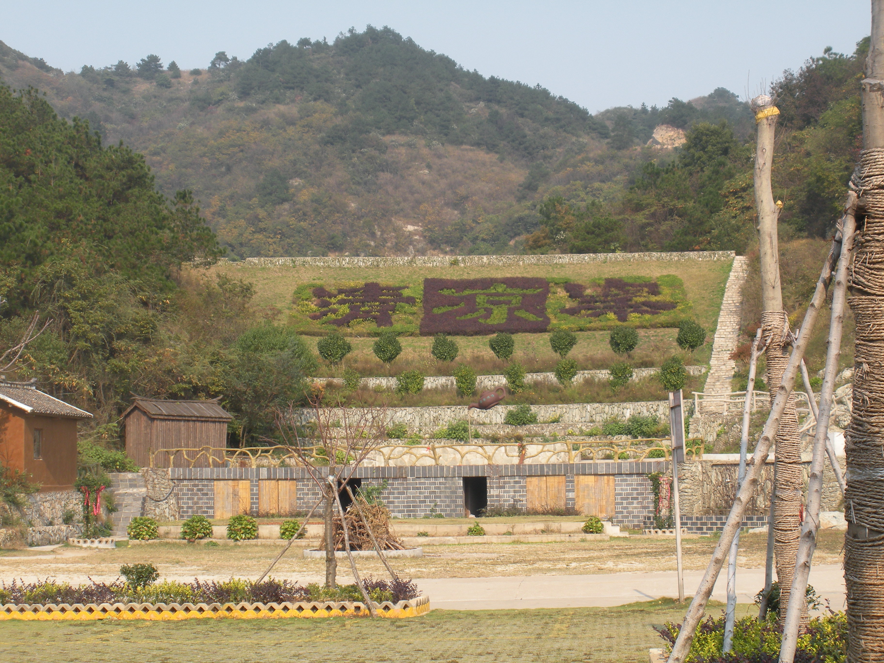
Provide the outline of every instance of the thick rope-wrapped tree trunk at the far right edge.
{"type": "Polygon", "coordinates": [[[872,0],[863,80],[863,152],[852,184],[865,211],[850,278],[856,318],[847,430],[844,580],[850,663],[884,660],[884,0],[872,0]]]}

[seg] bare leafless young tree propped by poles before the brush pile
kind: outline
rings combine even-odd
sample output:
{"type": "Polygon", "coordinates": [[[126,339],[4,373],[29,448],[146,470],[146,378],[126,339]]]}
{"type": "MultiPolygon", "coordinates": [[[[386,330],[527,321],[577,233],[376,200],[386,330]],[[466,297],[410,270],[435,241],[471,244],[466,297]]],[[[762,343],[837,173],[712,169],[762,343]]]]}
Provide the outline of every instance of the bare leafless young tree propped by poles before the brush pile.
{"type": "MultiPolygon", "coordinates": [[[[290,406],[287,411],[277,413],[277,428],[285,445],[307,469],[322,496],[325,586],[334,589],[338,574],[334,536],[336,507],[341,512],[342,526],[345,530],[347,527],[343,510],[339,507],[339,493],[346,489],[356,468],[384,444],[387,415],[385,408],[325,408],[318,399],[312,402],[312,412],[312,420],[302,425],[296,409],[290,406]],[[309,433],[306,432],[308,429],[309,433]]],[[[349,557],[356,583],[362,590],[352,555],[349,557]]]]}

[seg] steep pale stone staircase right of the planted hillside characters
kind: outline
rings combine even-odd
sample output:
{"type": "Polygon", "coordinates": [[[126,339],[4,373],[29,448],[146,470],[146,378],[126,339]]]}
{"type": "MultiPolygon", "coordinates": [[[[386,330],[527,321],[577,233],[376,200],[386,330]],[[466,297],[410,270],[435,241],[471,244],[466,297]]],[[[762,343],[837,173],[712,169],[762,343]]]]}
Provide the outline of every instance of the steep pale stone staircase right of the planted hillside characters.
{"type": "MultiPolygon", "coordinates": [[[[749,272],[749,263],[743,255],[734,258],[730,268],[728,285],[725,286],[724,300],[721,301],[718,327],[713,339],[713,356],[709,362],[709,377],[706,378],[705,393],[730,393],[730,381],[734,377],[736,363],[730,354],[736,349],[740,335],[740,320],[743,302],[743,284],[749,272]]],[[[727,404],[721,401],[700,401],[699,414],[724,414],[727,404]]]]}

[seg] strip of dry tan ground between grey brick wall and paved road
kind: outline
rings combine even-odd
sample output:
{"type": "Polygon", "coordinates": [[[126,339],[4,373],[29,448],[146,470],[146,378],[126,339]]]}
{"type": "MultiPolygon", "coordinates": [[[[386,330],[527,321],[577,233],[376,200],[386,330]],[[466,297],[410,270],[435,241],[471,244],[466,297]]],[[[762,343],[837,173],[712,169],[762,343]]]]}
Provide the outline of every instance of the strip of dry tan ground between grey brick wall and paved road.
{"type": "MultiPolygon", "coordinates": [[[[821,531],[814,564],[838,564],[842,560],[843,533],[821,531]]],[[[684,568],[706,567],[716,544],[713,537],[689,538],[683,542],[684,568]]],[[[231,576],[256,577],[263,573],[280,548],[275,544],[206,545],[150,543],[113,550],[83,550],[63,546],[54,552],[0,552],[0,579],[55,577],[68,582],[112,580],[123,564],[150,562],[163,577],[190,580],[225,580],[231,576]]],[[[279,561],[273,574],[279,578],[315,582],[324,577],[324,560],[304,560],[301,550],[292,548],[279,561]]],[[[744,534],[740,539],[738,563],[743,568],[761,568],[765,563],[766,535],[744,534]]],[[[391,560],[402,576],[412,578],[470,578],[499,575],[583,575],[618,572],[667,571],[675,568],[672,538],[628,537],[610,541],[568,543],[512,543],[427,545],[423,557],[391,560]]],[[[383,575],[378,560],[360,560],[361,572],[383,575]]],[[[348,580],[347,560],[339,560],[341,582],[348,580]]]]}

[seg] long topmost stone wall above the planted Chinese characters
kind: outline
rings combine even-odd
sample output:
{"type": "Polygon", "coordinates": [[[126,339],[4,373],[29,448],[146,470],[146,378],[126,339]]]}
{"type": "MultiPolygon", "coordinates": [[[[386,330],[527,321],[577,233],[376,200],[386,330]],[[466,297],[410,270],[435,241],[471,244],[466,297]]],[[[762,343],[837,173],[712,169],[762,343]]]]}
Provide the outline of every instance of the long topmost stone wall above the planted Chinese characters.
{"type": "Polygon", "coordinates": [[[397,255],[246,258],[247,267],[508,267],[530,264],[649,263],[652,261],[725,261],[734,251],[682,251],[674,253],[585,253],[565,255],[397,255]]]}

